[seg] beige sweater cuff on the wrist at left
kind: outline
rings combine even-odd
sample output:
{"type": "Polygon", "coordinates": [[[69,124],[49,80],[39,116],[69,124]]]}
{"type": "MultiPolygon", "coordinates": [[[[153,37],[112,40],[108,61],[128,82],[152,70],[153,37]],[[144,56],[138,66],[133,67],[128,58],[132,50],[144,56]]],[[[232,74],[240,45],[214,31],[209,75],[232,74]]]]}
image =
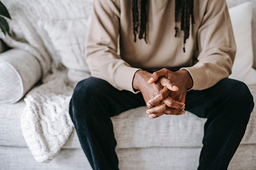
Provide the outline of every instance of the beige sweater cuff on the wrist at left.
{"type": "Polygon", "coordinates": [[[133,88],[133,79],[137,71],[141,70],[140,68],[132,68],[129,66],[123,66],[118,69],[116,72],[116,85],[118,90],[127,90],[131,91],[134,94],[137,94],[139,91],[135,91],[133,88]]]}

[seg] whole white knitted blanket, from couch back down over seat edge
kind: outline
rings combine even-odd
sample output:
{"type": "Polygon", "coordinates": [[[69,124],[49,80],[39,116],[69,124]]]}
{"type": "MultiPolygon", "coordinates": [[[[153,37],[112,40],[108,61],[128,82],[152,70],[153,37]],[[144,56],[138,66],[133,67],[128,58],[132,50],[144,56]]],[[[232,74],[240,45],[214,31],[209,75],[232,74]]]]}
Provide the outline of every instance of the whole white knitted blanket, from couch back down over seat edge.
{"type": "Polygon", "coordinates": [[[43,84],[26,94],[26,107],[21,116],[23,136],[38,162],[51,161],[67,142],[74,126],[68,111],[73,88],[65,84],[64,72],[56,69],[59,59],[55,58],[52,47],[39,37],[35,22],[39,18],[83,17],[87,6],[86,0],[20,0],[9,9],[10,26],[18,24],[24,39],[0,32],[7,45],[28,51],[41,64],[43,84]],[[50,9],[57,7],[58,10],[50,9]],[[49,75],[50,72],[53,74],[49,75]]]}

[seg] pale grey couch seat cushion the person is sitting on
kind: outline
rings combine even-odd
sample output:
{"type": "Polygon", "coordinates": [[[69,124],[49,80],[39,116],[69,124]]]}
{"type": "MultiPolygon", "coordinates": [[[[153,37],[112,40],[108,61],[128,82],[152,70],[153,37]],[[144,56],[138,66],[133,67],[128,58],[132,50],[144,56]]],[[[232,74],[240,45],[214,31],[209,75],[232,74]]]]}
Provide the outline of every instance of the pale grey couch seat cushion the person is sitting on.
{"type": "MultiPolygon", "coordinates": [[[[256,98],[256,85],[250,86],[256,98]]],[[[0,105],[0,145],[27,147],[22,136],[20,116],[25,102],[0,105]]],[[[147,108],[140,107],[125,111],[112,118],[117,148],[136,147],[202,147],[204,123],[186,111],[184,115],[163,115],[148,119],[147,108]]],[[[241,144],[256,144],[256,108],[251,114],[247,130],[241,144]]],[[[76,130],[63,148],[81,148],[76,130]]]]}

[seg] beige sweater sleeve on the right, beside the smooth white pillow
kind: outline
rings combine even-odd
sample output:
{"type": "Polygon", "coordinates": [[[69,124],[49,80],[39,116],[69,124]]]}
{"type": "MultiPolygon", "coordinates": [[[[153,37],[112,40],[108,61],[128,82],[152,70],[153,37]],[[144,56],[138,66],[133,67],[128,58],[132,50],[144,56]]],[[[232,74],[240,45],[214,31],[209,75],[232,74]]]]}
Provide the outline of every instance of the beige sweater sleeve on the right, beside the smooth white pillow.
{"type": "Polygon", "coordinates": [[[231,74],[236,44],[225,0],[209,0],[197,34],[200,54],[189,71],[193,90],[212,87],[231,74]]]}

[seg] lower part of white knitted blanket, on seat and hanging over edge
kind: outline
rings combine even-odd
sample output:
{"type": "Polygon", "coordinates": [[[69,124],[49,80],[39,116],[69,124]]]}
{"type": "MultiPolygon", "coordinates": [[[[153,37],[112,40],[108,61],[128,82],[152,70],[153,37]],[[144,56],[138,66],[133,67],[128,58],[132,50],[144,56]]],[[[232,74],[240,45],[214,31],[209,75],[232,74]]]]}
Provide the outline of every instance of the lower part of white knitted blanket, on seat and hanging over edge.
{"type": "Polygon", "coordinates": [[[64,83],[63,72],[54,71],[26,95],[21,128],[36,161],[51,161],[72,133],[68,111],[72,91],[64,83]]]}

